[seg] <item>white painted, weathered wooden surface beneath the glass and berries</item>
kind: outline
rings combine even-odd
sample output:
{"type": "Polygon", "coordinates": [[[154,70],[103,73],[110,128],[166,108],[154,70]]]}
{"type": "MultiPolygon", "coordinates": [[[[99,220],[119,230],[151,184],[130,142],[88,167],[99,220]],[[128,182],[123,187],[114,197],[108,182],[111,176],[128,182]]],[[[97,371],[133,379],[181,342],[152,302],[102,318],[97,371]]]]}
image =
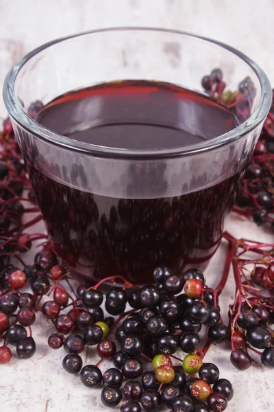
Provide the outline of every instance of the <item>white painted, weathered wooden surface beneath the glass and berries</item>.
{"type": "MultiPolygon", "coordinates": [[[[23,44],[24,52],[53,38],[99,27],[147,25],[186,30],[216,38],[253,58],[274,84],[274,3],[272,0],[0,0],[0,41],[12,39],[23,44]]],[[[0,48],[0,62],[3,59],[0,48]]],[[[8,69],[8,68],[7,68],[8,69]]],[[[3,70],[0,70],[0,83],[3,70]]],[[[0,102],[0,115],[3,106],[0,102]]],[[[231,216],[227,229],[236,237],[273,241],[272,233],[258,229],[252,222],[231,216]]],[[[206,271],[208,284],[214,286],[223,264],[221,247],[206,271]]],[[[230,278],[223,293],[224,312],[234,288],[230,278]]],[[[38,314],[39,317],[39,314],[38,314]]],[[[14,356],[0,367],[0,409],[5,412],[90,412],[103,411],[99,390],[89,390],[79,376],[62,369],[63,350],[47,347],[53,327],[40,319],[34,327],[38,342],[36,355],[26,361],[14,356]]],[[[229,412],[272,410],[273,372],[251,368],[240,372],[229,363],[229,350],[212,347],[208,361],[216,362],[221,376],[230,379],[235,396],[229,412]]],[[[95,348],[83,355],[84,362],[95,363],[95,348]]],[[[102,365],[107,369],[108,363],[102,365]]]]}

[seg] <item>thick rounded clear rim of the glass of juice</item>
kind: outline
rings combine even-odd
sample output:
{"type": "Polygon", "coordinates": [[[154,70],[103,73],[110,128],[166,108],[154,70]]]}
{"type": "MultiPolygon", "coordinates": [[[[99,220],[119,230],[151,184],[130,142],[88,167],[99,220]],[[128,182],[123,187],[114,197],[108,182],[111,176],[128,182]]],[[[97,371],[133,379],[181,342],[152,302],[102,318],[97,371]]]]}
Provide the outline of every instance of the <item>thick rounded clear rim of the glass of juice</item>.
{"type": "Polygon", "coordinates": [[[169,158],[180,157],[184,155],[194,155],[199,152],[213,150],[214,148],[218,148],[219,146],[223,146],[231,143],[232,141],[240,139],[240,137],[249,133],[251,130],[253,130],[253,128],[256,128],[256,126],[258,126],[264,120],[267,113],[269,113],[272,102],[272,89],[271,83],[269,82],[269,78],[267,78],[266,73],[264,73],[264,71],[255,62],[253,62],[253,60],[245,56],[245,54],[242,54],[242,52],[239,52],[237,49],[234,49],[234,47],[230,47],[229,45],[225,45],[224,43],[221,43],[219,41],[215,41],[203,36],[197,36],[195,34],[191,34],[188,32],[182,32],[180,30],[170,30],[158,27],[108,27],[58,38],[48,43],[45,43],[44,45],[41,45],[40,47],[37,47],[36,49],[32,50],[32,52],[26,54],[23,58],[21,58],[21,60],[18,60],[18,62],[16,62],[14,67],[10,69],[5,78],[5,82],[3,85],[3,100],[8,110],[8,113],[16,123],[18,123],[21,127],[25,128],[33,135],[36,135],[36,137],[38,137],[39,139],[43,139],[49,142],[50,144],[62,146],[66,149],[74,150],[77,152],[84,152],[86,155],[93,155],[97,157],[155,159],[162,157],[169,158]],[[247,63],[247,65],[251,67],[253,72],[256,73],[256,76],[258,77],[258,80],[260,81],[260,86],[262,88],[262,94],[260,96],[258,107],[245,122],[243,122],[239,126],[236,126],[236,128],[230,130],[229,132],[224,133],[223,135],[219,135],[217,137],[214,137],[213,139],[201,141],[196,144],[189,144],[187,146],[182,146],[179,148],[165,148],[157,150],[129,150],[122,148],[108,148],[98,146],[95,144],[89,144],[82,141],[75,141],[69,137],[60,135],[58,133],[53,132],[52,130],[43,127],[41,124],[32,119],[32,117],[29,117],[29,115],[27,115],[25,111],[23,111],[20,102],[16,98],[14,86],[18,73],[21,71],[25,63],[31,60],[32,57],[36,56],[36,54],[39,54],[48,47],[51,47],[57,43],[62,43],[63,41],[69,40],[71,38],[86,36],[88,34],[120,31],[149,31],[169,34],[182,34],[184,36],[197,38],[199,40],[218,45],[223,49],[227,49],[227,51],[232,52],[233,54],[244,60],[247,63]]]}

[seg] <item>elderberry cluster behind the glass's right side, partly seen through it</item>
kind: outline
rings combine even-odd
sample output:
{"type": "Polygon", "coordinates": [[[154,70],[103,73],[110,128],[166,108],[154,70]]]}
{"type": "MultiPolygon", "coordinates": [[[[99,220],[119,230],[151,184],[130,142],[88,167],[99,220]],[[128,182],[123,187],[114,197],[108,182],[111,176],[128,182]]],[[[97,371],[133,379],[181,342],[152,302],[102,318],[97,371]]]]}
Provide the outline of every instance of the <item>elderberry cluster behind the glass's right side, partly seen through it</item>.
{"type": "MultiPolygon", "coordinates": [[[[220,69],[214,69],[210,76],[204,76],[201,84],[212,98],[223,102],[236,115],[238,122],[247,120],[251,114],[251,105],[256,91],[249,77],[238,84],[238,90],[234,93],[230,90],[224,91],[225,82],[223,82],[223,73],[220,69]]],[[[245,172],[234,208],[238,214],[253,218],[258,226],[269,222],[272,229],[274,229],[273,177],[274,103],[264,122],[260,139],[245,172]]]]}

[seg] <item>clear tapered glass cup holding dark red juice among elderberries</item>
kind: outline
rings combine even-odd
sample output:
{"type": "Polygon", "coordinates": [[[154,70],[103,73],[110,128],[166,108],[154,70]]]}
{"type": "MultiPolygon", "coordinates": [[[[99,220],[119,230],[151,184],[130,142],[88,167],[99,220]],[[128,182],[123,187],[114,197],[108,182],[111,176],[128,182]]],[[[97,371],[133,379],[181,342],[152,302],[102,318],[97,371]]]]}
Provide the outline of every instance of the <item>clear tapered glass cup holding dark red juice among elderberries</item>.
{"type": "MultiPolygon", "coordinates": [[[[8,73],[3,95],[55,251],[90,282],[122,274],[143,284],[152,282],[158,265],[175,273],[206,266],[272,92],[260,67],[232,47],[184,32],[129,27],[39,47],[8,73]],[[252,96],[236,128],[196,144],[98,146],[55,133],[29,113],[31,104],[32,112],[69,91],[116,80],[152,79],[204,93],[201,79],[215,67],[223,71],[225,91],[237,91],[249,77],[252,96]]],[[[90,107],[95,122],[100,104],[90,107]]],[[[164,111],[158,115],[161,123],[164,111]]]]}

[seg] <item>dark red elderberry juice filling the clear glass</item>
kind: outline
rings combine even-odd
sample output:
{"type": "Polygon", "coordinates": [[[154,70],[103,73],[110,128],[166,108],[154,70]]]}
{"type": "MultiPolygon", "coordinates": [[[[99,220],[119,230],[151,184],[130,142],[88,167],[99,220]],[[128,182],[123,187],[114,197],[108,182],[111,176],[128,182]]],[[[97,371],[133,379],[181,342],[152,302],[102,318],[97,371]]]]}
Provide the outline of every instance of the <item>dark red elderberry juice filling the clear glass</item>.
{"type": "MultiPolygon", "coordinates": [[[[225,106],[205,95],[172,84],[135,80],[66,93],[44,106],[36,121],[71,139],[110,150],[182,148],[238,125],[225,106]]],[[[201,190],[186,187],[182,174],[181,193],[159,197],[153,193],[159,188],[164,192],[165,168],[144,170],[136,163],[125,170],[123,196],[115,196],[114,191],[84,189],[90,176],[83,165],[73,164],[66,184],[42,174],[35,165],[27,161],[38,205],[60,257],[93,279],[122,274],[138,284],[152,282],[153,268],[160,264],[175,273],[186,266],[206,265],[219,245],[243,173],[217,185],[201,181],[201,190]],[[142,192],[142,185],[151,188],[149,196],[134,197],[142,192]]],[[[103,173],[97,179],[103,179],[103,173]]]]}

